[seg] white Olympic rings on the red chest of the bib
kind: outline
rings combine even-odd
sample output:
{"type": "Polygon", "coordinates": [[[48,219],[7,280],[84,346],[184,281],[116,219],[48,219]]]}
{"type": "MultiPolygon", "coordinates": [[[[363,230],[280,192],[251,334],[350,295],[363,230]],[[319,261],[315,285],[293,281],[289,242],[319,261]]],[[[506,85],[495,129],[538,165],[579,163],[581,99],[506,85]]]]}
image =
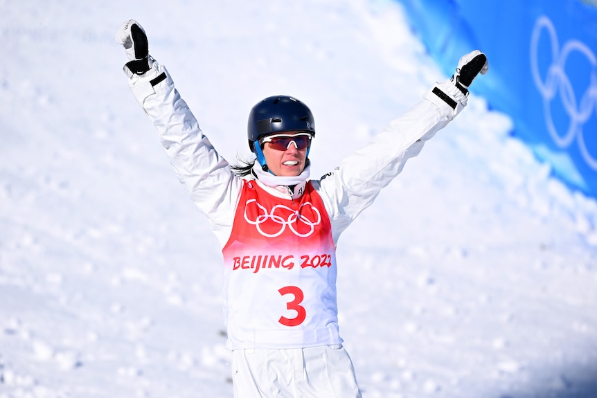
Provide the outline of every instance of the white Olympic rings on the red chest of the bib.
{"type": "Polygon", "coordinates": [[[262,206],[257,199],[249,199],[244,206],[244,219],[247,220],[249,224],[256,226],[258,232],[265,237],[278,237],[282,235],[286,230],[286,227],[298,237],[309,237],[314,233],[315,226],[318,226],[319,223],[321,223],[321,213],[310,202],[301,204],[299,210],[292,210],[292,208],[289,208],[288,206],[278,204],[268,212],[265,206],[262,206]],[[255,217],[256,219],[251,219],[247,214],[247,209],[251,203],[255,203],[255,206],[257,206],[258,215],[255,217]],[[311,208],[311,214],[315,216],[314,220],[308,219],[304,214],[305,212],[301,212],[305,206],[311,208]],[[265,231],[263,226],[266,224],[268,230],[272,228],[272,226],[273,230],[265,231]],[[306,229],[306,231],[303,231],[303,229],[306,229]]]}

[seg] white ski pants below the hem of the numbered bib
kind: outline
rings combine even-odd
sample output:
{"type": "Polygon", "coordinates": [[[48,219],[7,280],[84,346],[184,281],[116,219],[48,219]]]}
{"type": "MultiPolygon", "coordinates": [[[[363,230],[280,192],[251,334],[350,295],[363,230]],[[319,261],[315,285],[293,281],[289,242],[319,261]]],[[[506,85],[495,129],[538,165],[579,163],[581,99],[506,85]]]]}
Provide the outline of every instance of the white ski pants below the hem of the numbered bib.
{"type": "Polygon", "coordinates": [[[361,398],[341,345],[234,350],[232,380],[235,398],[361,398]]]}

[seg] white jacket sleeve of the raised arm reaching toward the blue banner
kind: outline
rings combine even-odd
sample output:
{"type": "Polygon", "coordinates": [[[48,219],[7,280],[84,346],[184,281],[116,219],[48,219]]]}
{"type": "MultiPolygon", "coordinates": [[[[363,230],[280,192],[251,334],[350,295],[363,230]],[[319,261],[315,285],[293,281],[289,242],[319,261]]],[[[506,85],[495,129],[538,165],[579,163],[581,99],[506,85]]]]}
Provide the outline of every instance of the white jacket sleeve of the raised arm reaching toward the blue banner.
{"type": "Polygon", "coordinates": [[[333,172],[313,181],[328,210],[334,242],[466,102],[467,97],[449,80],[437,84],[371,143],[342,159],[333,172]]]}

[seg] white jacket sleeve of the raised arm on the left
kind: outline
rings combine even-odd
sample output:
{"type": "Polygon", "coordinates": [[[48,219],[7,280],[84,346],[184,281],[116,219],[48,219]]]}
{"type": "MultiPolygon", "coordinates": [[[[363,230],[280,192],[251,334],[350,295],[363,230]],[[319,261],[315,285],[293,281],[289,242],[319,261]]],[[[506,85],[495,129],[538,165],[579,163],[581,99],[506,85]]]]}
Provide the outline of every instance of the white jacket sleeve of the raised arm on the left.
{"type": "Polygon", "coordinates": [[[125,66],[130,89],[154,124],[181,183],[209,219],[222,247],[231,233],[242,180],[204,136],[164,66],[150,59],[143,75],[125,66]]]}

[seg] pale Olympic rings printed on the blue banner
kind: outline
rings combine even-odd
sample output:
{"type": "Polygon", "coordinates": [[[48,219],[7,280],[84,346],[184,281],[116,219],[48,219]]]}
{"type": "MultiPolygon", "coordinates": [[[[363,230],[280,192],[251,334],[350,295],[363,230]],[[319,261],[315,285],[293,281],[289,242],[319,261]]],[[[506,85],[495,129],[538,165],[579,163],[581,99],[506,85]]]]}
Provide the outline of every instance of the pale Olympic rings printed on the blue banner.
{"type": "Polygon", "coordinates": [[[558,34],[551,20],[547,17],[537,19],[531,37],[531,71],[535,86],[543,97],[545,124],[553,141],[559,147],[568,147],[578,138],[578,147],[582,159],[593,169],[597,170],[597,159],[589,153],[585,138],[582,134],[582,125],[587,123],[594,111],[597,111],[597,57],[591,49],[578,40],[569,40],[560,49],[558,34]],[[543,31],[551,41],[551,65],[547,70],[545,80],[542,80],[538,65],[539,39],[543,31]],[[587,59],[591,66],[590,84],[582,94],[580,102],[577,100],[572,84],[565,73],[568,58],[573,53],[580,53],[587,59]],[[567,132],[560,134],[553,123],[550,102],[559,93],[560,101],[567,112],[570,122],[567,132]]]}

